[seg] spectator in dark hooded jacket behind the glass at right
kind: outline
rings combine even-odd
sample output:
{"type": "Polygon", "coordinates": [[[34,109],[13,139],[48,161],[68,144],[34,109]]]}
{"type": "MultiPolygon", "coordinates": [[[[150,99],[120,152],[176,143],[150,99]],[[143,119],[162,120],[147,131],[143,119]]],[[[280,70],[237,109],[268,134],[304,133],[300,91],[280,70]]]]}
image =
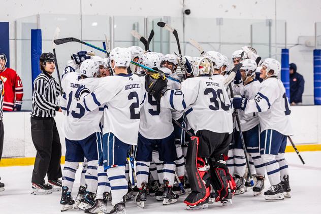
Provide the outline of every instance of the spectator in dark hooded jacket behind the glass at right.
{"type": "Polygon", "coordinates": [[[302,94],[304,91],[303,76],[297,73],[297,65],[290,64],[290,103],[291,105],[302,104],[302,94]]]}

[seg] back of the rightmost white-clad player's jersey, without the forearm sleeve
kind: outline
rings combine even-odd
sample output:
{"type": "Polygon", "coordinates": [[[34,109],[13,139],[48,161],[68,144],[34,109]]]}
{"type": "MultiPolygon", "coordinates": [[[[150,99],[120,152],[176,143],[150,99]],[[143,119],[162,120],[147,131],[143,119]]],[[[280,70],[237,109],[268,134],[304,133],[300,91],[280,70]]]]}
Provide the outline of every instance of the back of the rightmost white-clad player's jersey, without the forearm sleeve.
{"type": "Polygon", "coordinates": [[[291,109],[282,82],[277,78],[264,80],[259,94],[269,100],[269,109],[266,112],[259,112],[261,131],[274,129],[284,135],[291,135],[291,109]]]}

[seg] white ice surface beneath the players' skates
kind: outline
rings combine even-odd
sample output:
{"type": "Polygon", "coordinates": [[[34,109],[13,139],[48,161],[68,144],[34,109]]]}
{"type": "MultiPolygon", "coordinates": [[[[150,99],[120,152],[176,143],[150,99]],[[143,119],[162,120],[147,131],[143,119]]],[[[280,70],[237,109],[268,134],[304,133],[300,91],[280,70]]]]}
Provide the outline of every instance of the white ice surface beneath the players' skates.
{"type": "MultiPolygon", "coordinates": [[[[137,207],[133,200],[126,202],[127,213],[321,213],[321,152],[302,152],[306,164],[302,165],[296,153],[286,153],[285,157],[290,168],[290,184],[292,198],[283,201],[266,201],[263,195],[253,197],[252,192],[235,196],[233,206],[222,207],[217,202],[210,204],[208,209],[185,210],[185,204],[181,196],[176,204],[162,205],[152,197],[145,202],[145,209],[137,207]]],[[[80,169],[77,170],[76,182],[73,189],[73,197],[76,197],[79,182],[80,169]]],[[[60,193],[51,195],[31,195],[31,173],[33,166],[0,167],[0,176],[5,183],[6,190],[0,192],[0,214],[7,213],[61,213],[60,193]]],[[[266,189],[269,187],[266,180],[266,189]]],[[[108,203],[111,209],[110,202],[108,203]]],[[[64,213],[83,213],[80,210],[68,210],[64,213]]]]}

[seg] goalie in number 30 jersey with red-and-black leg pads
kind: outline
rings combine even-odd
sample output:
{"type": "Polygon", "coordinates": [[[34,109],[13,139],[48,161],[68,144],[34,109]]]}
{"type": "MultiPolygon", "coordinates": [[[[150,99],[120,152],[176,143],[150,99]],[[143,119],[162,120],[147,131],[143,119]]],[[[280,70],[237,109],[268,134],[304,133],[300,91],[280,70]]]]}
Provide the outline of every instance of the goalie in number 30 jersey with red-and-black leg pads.
{"type": "Polygon", "coordinates": [[[161,107],[184,110],[196,132],[197,137],[192,137],[188,145],[186,163],[192,192],[184,201],[192,209],[207,207],[210,183],[223,203],[231,198],[229,191],[234,188],[223,160],[233,131],[231,102],[223,83],[210,77],[212,69],[211,60],[202,57],[194,66],[196,78],[185,80],[180,90],[165,89],[161,80],[146,80],[146,89],[161,102],[161,107]]]}

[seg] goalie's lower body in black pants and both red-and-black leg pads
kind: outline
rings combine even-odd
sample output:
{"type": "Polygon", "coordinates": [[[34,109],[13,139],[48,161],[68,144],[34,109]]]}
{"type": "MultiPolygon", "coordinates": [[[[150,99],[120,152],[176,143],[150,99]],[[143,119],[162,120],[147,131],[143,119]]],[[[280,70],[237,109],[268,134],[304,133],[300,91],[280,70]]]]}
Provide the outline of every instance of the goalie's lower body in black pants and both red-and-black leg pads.
{"type": "MultiPolygon", "coordinates": [[[[202,130],[201,132],[207,132],[202,130]]],[[[221,139],[221,144],[217,144],[216,148],[209,147],[208,152],[210,155],[202,155],[205,145],[200,148],[200,139],[203,144],[207,144],[207,140],[204,140],[202,133],[197,133],[199,137],[192,136],[191,141],[188,144],[187,157],[186,157],[186,171],[188,182],[191,188],[191,193],[185,198],[184,203],[188,206],[187,209],[200,209],[207,208],[210,198],[210,184],[215,190],[215,201],[225,201],[231,199],[236,190],[236,185],[233,177],[230,175],[228,167],[224,164],[223,156],[220,155],[227,150],[229,144],[228,140],[231,138],[231,134],[228,133],[214,133],[211,135],[220,135],[221,137],[215,137],[212,139],[221,139]],[[225,135],[224,137],[222,137],[225,135]],[[199,154],[199,155],[198,155],[199,154]],[[217,154],[217,155],[215,155],[217,154]],[[214,156],[213,156],[214,155],[214,156]],[[207,157],[200,157],[207,156],[207,157]],[[213,159],[213,161],[212,161],[213,159]],[[214,161],[216,159],[216,161],[214,161]],[[207,160],[209,160],[207,162],[207,160]]],[[[217,142],[218,142],[217,141],[217,142]]],[[[213,146],[213,145],[212,145],[213,146]]]]}

